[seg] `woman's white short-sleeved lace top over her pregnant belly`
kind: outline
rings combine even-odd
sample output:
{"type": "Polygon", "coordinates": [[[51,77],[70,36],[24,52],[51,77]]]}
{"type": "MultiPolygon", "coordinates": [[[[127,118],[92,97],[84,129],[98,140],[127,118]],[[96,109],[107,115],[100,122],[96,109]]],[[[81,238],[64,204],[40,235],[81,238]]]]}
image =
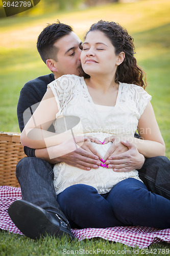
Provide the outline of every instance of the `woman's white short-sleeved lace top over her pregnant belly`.
{"type": "MultiPolygon", "coordinates": [[[[100,141],[104,141],[105,137],[111,135],[134,137],[138,119],[151,100],[151,96],[143,88],[119,82],[116,104],[109,109],[107,115],[103,115],[99,111],[99,106],[92,101],[83,77],[63,75],[48,84],[49,87],[53,91],[59,108],[54,121],[56,132],[61,133],[58,118],[77,116],[80,122],[75,126],[72,125],[74,126],[72,132],[75,135],[84,133],[84,135],[94,136],[100,141]]],[[[105,145],[93,143],[103,157],[110,145],[111,142],[105,145]]],[[[95,187],[100,194],[104,194],[118,182],[130,177],[140,180],[137,170],[129,173],[115,173],[112,169],[102,166],[86,171],[64,162],[54,165],[54,186],[57,195],[74,184],[87,184],[95,187]]]]}

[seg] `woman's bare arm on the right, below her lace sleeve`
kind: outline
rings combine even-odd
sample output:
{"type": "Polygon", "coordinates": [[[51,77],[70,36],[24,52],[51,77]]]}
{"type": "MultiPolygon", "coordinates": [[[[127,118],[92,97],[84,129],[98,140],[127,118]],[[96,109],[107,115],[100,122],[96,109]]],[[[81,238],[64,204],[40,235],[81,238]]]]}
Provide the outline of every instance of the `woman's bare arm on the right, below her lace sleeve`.
{"type": "Polygon", "coordinates": [[[148,158],[165,155],[165,144],[150,102],[139,119],[138,133],[142,139],[133,138],[132,142],[139,153],[148,158]]]}

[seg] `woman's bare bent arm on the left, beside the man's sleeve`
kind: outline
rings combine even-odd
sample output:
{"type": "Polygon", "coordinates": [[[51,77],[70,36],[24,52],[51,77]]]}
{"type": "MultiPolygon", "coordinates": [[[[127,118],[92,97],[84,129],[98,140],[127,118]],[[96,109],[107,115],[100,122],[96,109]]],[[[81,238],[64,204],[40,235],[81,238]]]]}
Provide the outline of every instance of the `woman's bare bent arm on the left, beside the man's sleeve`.
{"type": "Polygon", "coordinates": [[[58,111],[56,99],[49,88],[21,133],[22,145],[31,148],[45,148],[61,144],[69,139],[70,134],[55,134],[47,131],[56,119],[58,111]]]}

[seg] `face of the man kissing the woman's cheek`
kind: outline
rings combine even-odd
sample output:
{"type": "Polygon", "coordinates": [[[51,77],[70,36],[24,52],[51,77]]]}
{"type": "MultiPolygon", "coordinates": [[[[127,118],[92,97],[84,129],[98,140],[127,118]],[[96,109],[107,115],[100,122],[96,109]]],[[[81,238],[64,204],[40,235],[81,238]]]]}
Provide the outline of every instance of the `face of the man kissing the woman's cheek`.
{"type": "Polygon", "coordinates": [[[58,48],[55,62],[57,72],[55,77],[62,75],[83,75],[81,68],[80,54],[82,52],[82,41],[74,33],[70,32],[68,35],[63,36],[54,44],[58,48]]]}

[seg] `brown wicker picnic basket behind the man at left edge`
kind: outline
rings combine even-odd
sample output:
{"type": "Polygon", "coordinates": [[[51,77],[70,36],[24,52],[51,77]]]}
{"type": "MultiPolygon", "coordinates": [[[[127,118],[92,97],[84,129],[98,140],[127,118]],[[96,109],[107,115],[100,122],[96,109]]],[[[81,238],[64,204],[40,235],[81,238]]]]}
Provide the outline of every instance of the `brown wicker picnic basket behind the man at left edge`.
{"type": "Polygon", "coordinates": [[[0,132],[0,186],[19,187],[15,177],[16,164],[23,157],[20,133],[0,132]]]}

